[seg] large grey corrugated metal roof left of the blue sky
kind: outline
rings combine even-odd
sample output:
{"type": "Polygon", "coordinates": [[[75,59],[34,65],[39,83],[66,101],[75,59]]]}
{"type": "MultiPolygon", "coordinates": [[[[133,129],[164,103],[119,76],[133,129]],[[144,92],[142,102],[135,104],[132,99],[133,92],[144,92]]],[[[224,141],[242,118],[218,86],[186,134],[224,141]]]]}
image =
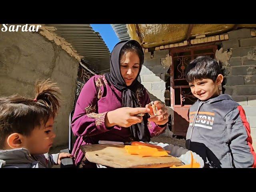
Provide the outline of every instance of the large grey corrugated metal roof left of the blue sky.
{"type": "Polygon", "coordinates": [[[46,24],[57,30],[56,34],[69,42],[96,73],[110,72],[110,51],[98,32],[90,24],[46,24]]]}

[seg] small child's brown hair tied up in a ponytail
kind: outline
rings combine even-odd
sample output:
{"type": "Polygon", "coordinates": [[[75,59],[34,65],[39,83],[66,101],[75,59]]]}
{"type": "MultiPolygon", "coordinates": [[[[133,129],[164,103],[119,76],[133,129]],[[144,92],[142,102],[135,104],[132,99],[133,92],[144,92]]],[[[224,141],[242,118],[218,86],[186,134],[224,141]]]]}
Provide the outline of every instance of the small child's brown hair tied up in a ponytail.
{"type": "Polygon", "coordinates": [[[29,136],[36,127],[55,117],[60,107],[60,89],[49,79],[37,82],[35,99],[12,95],[0,97],[0,149],[12,133],[29,136]]]}

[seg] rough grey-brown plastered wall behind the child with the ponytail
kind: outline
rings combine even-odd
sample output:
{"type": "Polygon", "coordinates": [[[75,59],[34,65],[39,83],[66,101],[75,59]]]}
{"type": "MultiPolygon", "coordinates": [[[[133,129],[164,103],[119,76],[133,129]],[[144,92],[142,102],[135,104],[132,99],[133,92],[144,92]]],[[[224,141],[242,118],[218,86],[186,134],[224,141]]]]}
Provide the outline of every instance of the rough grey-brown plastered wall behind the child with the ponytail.
{"type": "Polygon", "coordinates": [[[34,98],[36,80],[51,78],[62,90],[54,123],[54,146],[68,144],[68,117],[74,105],[78,60],[33,32],[0,31],[0,96],[34,98]]]}

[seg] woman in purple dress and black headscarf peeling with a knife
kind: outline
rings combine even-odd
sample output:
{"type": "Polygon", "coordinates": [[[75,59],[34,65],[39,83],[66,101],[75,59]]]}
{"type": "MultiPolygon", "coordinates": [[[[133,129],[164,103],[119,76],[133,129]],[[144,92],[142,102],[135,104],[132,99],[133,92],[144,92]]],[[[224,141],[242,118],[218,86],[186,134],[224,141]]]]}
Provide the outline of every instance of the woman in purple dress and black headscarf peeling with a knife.
{"type": "Polygon", "coordinates": [[[137,41],[121,41],[111,53],[110,74],[95,75],[82,88],[71,124],[78,136],[72,151],[76,166],[96,167],[86,160],[81,145],[98,144],[99,140],[150,141],[164,132],[169,116],[165,105],[155,101],[158,116],[151,117],[150,98],[138,82],[143,61],[137,41]],[[136,116],[139,113],[145,115],[136,116]]]}

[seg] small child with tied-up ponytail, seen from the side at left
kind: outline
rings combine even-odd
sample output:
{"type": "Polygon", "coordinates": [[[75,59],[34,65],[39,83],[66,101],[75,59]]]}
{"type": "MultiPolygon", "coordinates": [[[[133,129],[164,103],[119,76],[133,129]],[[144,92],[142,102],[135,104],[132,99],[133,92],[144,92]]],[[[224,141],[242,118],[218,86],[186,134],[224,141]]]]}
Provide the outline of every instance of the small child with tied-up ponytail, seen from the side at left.
{"type": "Polygon", "coordinates": [[[38,82],[35,99],[18,95],[0,98],[0,168],[51,168],[69,153],[49,155],[55,134],[59,88],[38,82]]]}

